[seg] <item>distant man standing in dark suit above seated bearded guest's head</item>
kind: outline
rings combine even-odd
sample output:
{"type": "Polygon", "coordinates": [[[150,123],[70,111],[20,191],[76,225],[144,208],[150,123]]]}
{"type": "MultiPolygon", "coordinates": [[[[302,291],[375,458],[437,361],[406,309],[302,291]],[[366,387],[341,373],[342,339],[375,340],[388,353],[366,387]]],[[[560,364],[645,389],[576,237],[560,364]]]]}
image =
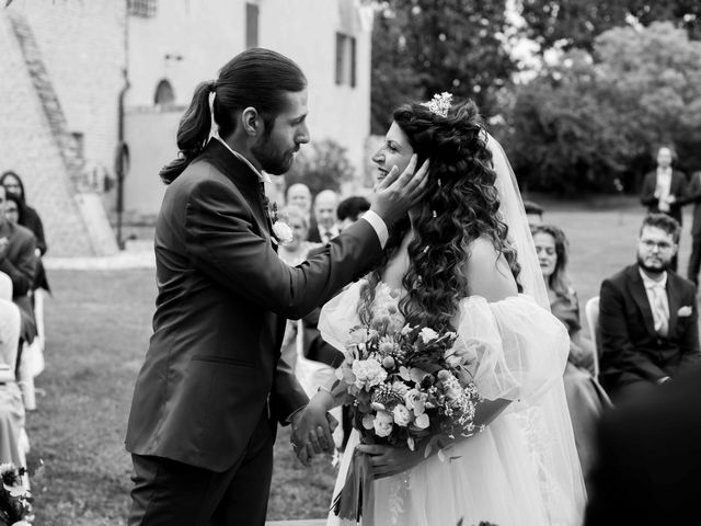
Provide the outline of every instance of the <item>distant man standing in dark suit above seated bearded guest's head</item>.
{"type": "MultiPolygon", "coordinates": [[[[674,217],[681,226],[681,206],[685,204],[687,178],[673,170],[673,149],[663,146],[657,150],[657,170],[645,175],[640,201],[647,207],[648,213],[663,213],[674,217]]],[[[671,260],[670,267],[677,271],[677,254],[671,260]]]]}

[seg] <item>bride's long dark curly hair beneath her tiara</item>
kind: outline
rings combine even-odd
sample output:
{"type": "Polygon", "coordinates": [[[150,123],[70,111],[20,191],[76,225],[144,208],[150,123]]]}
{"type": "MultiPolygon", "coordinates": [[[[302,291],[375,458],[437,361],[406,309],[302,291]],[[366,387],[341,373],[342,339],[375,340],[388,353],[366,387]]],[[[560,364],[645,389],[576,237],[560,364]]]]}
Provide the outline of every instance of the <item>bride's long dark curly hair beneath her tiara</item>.
{"type": "MultiPolygon", "coordinates": [[[[508,227],[498,211],[492,152],[472,101],[453,103],[445,117],[420,103],[404,104],[393,118],[418,157],[416,165],[430,161],[427,198],[414,218],[414,239],[409,244],[410,267],[402,281],[407,294],[400,301],[400,311],[412,325],[447,330],[459,301],[469,295],[464,265],[470,243],[486,237],[504,254],[515,278],[520,272],[516,250],[507,241],[508,227]]],[[[375,290],[387,263],[410,228],[409,217],[392,228],[382,263],[367,276],[358,306],[364,323],[370,320],[375,290]]]]}

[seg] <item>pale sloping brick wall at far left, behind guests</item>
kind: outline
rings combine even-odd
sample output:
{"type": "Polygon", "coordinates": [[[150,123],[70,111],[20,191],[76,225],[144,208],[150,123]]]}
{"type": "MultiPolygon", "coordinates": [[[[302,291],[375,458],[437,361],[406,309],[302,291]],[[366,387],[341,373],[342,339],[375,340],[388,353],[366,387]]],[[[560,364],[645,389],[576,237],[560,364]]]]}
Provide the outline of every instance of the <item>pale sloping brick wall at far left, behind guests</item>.
{"type": "Polygon", "coordinates": [[[30,18],[13,7],[0,12],[0,108],[3,167],[28,187],[39,210],[49,251],[58,256],[118,252],[104,205],[90,186],[81,145],[71,133],[30,18]],[[7,77],[9,76],[9,77],[7,77]],[[7,80],[7,83],[5,83],[7,80]],[[20,139],[21,138],[21,139],[20,139]]]}

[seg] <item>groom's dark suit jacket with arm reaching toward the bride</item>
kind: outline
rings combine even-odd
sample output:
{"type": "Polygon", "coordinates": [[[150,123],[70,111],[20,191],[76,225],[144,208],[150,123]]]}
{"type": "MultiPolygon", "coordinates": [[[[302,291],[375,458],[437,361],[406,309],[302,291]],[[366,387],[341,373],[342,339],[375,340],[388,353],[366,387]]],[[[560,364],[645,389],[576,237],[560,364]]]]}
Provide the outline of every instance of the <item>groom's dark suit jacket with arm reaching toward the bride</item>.
{"type": "Polygon", "coordinates": [[[158,298],[126,447],[223,471],[266,403],[285,423],[308,399],[280,344],[287,318],[379,261],[367,221],[298,267],[276,253],[257,175],[211,140],[165,192],[156,227],[158,298]]]}

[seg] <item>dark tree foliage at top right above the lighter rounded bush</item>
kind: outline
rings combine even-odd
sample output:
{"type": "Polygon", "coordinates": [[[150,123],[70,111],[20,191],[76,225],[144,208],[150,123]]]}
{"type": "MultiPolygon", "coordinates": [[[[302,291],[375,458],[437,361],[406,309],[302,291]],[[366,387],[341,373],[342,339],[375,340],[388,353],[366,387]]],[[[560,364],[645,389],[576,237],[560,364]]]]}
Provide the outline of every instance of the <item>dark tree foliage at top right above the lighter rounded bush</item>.
{"type": "Polygon", "coordinates": [[[699,0],[520,0],[520,8],[524,35],[540,44],[541,52],[555,46],[593,50],[605,31],[656,21],[671,21],[691,38],[701,38],[699,0]]]}

